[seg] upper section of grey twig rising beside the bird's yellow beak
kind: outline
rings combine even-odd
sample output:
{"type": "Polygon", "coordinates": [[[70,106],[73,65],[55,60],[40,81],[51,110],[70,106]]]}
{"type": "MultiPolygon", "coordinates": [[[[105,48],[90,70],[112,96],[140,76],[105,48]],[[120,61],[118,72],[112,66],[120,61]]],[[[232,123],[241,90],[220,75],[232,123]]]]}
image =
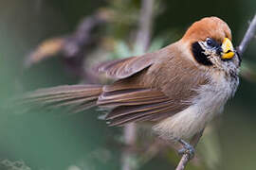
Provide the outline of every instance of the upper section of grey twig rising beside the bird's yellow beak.
{"type": "Polygon", "coordinates": [[[242,55],[246,51],[248,43],[254,38],[255,33],[256,33],[256,14],[254,15],[254,18],[252,19],[250,25],[247,28],[247,33],[244,36],[243,41],[236,48],[240,57],[242,57],[242,55]]]}

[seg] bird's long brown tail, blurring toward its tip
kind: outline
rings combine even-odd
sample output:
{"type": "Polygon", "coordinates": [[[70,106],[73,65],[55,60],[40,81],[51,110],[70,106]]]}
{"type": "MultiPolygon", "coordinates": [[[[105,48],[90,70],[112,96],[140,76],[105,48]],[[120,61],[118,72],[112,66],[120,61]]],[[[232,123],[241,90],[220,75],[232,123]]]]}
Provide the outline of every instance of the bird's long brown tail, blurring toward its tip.
{"type": "Polygon", "coordinates": [[[27,93],[21,103],[32,108],[67,106],[72,112],[80,112],[96,106],[101,92],[102,85],[64,85],[27,93]]]}

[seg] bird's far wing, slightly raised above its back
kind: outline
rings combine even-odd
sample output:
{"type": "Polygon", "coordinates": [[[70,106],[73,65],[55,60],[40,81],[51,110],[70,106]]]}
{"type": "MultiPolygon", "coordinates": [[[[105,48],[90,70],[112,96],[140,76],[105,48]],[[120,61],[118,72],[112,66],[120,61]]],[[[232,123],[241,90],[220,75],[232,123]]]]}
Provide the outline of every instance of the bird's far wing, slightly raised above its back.
{"type": "Polygon", "coordinates": [[[141,57],[106,61],[96,67],[96,70],[105,73],[109,77],[125,78],[152,65],[155,59],[154,56],[154,53],[150,53],[141,57]]]}

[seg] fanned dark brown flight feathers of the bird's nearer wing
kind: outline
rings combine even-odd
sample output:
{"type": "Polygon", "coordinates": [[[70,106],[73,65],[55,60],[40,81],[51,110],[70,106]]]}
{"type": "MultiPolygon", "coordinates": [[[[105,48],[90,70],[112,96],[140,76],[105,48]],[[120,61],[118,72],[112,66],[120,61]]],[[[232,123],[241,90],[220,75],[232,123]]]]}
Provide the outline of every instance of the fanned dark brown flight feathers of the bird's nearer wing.
{"type": "Polygon", "coordinates": [[[97,104],[100,107],[114,108],[106,116],[110,126],[161,120],[190,106],[188,103],[177,104],[155,89],[135,86],[130,88],[127,83],[105,86],[97,104]]]}

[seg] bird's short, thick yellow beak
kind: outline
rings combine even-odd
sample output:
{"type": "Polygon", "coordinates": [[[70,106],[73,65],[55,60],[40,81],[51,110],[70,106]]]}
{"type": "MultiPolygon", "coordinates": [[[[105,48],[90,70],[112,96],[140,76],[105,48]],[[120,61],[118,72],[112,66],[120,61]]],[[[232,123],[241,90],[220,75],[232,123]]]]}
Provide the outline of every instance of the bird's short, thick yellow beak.
{"type": "Polygon", "coordinates": [[[221,45],[223,54],[221,56],[222,59],[232,59],[235,55],[234,48],[232,42],[225,38],[221,45]]]}

